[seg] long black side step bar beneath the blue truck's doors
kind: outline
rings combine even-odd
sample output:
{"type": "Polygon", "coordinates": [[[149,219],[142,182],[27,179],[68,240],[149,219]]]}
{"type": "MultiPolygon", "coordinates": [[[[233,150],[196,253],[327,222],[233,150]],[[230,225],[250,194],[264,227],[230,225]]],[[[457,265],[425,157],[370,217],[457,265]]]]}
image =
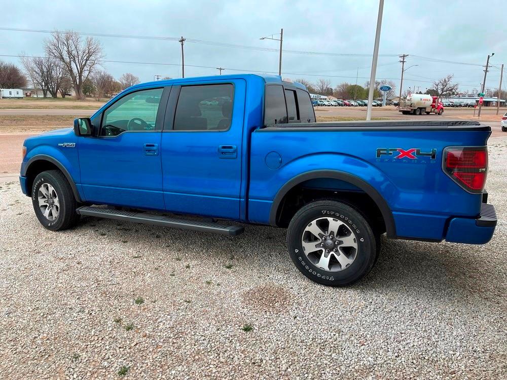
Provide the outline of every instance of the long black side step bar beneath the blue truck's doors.
{"type": "Polygon", "coordinates": [[[174,216],[152,215],[144,212],[112,210],[103,207],[83,206],[76,209],[76,212],[80,215],[97,216],[100,218],[117,219],[135,223],[155,224],[183,230],[213,232],[221,235],[236,236],[242,234],[244,231],[244,228],[239,225],[183,219],[174,216]]]}

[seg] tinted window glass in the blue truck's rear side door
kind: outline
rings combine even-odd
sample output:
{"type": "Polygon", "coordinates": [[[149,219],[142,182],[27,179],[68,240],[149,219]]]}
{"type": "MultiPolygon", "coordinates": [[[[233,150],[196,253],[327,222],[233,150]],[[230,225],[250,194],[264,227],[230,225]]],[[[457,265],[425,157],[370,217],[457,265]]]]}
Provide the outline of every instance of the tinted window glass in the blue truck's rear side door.
{"type": "Polygon", "coordinates": [[[175,131],[224,131],[232,120],[231,84],[183,86],[174,113],[175,131]]]}

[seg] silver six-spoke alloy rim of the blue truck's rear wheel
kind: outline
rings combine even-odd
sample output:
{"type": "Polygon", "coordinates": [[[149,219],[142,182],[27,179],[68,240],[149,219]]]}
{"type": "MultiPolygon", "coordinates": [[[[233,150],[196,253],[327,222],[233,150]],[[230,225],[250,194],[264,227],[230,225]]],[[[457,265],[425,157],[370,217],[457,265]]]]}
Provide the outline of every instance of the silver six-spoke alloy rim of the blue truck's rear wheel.
{"type": "Polygon", "coordinates": [[[357,239],[347,224],[335,218],[318,218],[308,224],[301,238],[306,257],[319,269],[339,272],[357,256],[357,239]]]}

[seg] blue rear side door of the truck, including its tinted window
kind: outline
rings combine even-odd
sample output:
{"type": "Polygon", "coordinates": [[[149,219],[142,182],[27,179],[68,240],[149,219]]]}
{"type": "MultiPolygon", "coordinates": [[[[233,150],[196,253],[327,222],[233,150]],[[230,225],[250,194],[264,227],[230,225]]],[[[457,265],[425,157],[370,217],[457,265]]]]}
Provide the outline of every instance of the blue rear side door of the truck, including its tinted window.
{"type": "Polygon", "coordinates": [[[173,86],[162,133],[167,211],[240,218],[246,82],[173,86]]]}

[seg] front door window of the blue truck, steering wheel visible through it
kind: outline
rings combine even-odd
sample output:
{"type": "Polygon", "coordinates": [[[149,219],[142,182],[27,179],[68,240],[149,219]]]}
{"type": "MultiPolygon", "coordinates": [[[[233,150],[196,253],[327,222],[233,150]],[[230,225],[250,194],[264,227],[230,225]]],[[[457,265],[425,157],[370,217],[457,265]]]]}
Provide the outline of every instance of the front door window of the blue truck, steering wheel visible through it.
{"type": "Polygon", "coordinates": [[[132,92],[104,111],[101,136],[117,136],[125,131],[155,131],[157,112],[164,89],[132,92]]]}

